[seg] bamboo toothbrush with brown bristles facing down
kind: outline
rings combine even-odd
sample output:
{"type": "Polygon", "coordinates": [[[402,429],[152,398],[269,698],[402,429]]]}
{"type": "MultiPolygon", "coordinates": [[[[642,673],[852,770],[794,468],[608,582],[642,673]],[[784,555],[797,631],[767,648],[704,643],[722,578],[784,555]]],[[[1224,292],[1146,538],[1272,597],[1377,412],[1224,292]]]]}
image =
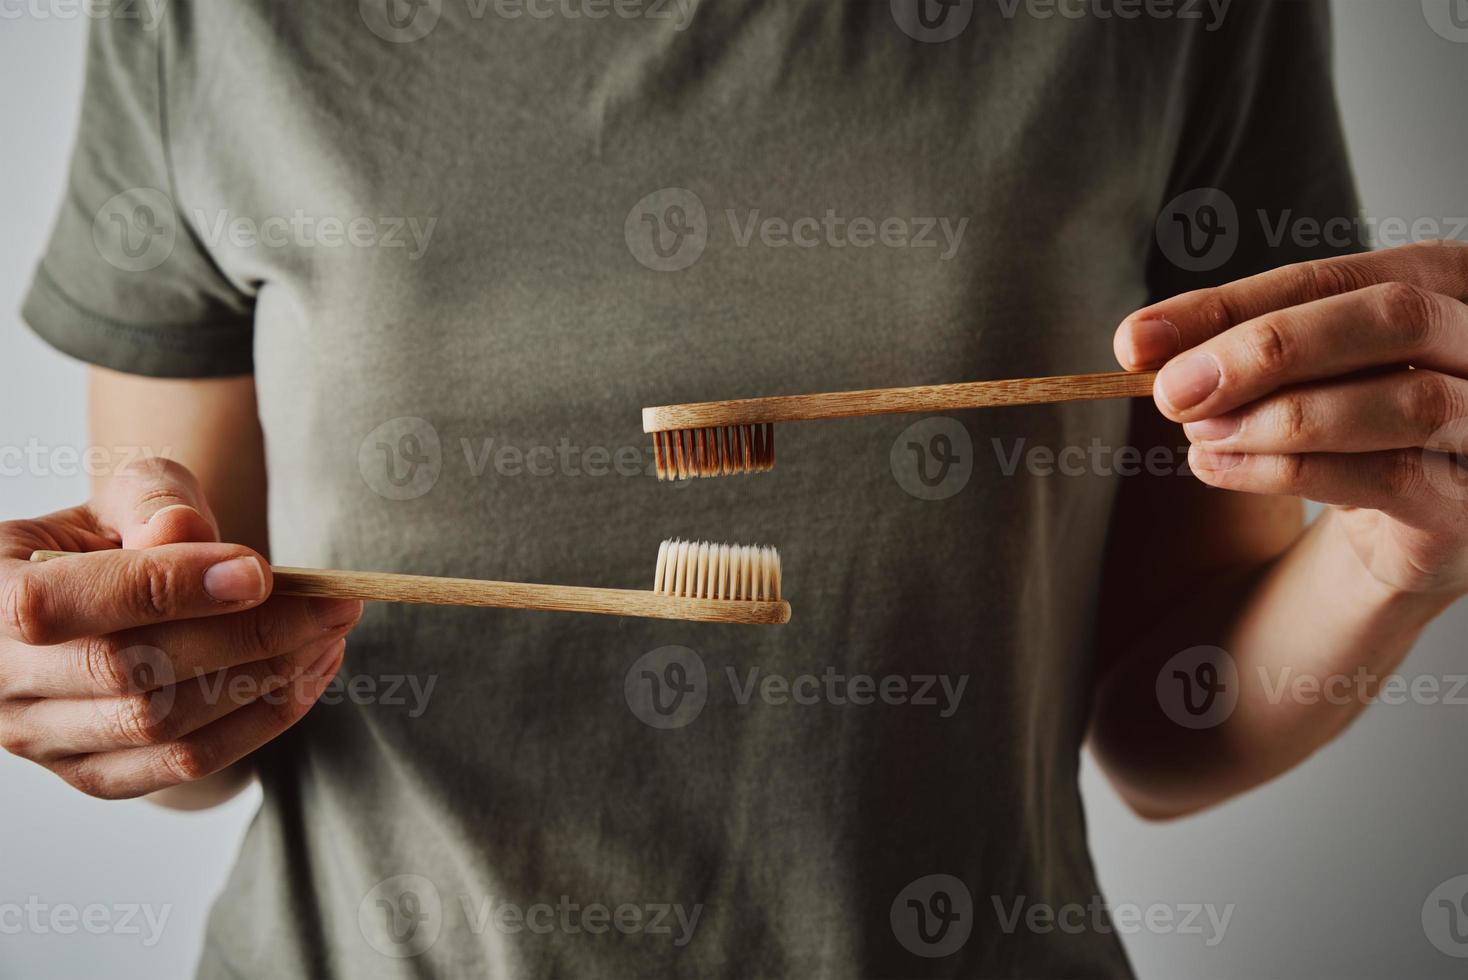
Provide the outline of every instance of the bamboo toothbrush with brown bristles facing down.
{"type": "Polygon", "coordinates": [[[775,468],[775,423],[1138,398],[1152,393],[1155,379],[1117,371],[661,405],[643,409],[643,431],[652,433],[659,480],[727,477],[775,468]]]}

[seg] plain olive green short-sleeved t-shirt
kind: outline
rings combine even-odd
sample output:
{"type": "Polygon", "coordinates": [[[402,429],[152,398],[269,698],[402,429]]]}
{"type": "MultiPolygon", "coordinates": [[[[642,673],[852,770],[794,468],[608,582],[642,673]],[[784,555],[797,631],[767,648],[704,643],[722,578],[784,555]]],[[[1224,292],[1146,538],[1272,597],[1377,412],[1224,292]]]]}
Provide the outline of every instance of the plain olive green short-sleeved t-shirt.
{"type": "Polygon", "coordinates": [[[640,408],[1114,370],[1149,298],[1339,248],[1323,7],[97,21],[25,317],[119,371],[252,371],[273,560],[644,588],[684,535],[778,546],[794,609],[370,606],[260,754],[201,976],[1126,976],[1104,918],[1028,913],[1098,901],[1129,405],[784,425],[772,472],[688,484],[640,408]]]}

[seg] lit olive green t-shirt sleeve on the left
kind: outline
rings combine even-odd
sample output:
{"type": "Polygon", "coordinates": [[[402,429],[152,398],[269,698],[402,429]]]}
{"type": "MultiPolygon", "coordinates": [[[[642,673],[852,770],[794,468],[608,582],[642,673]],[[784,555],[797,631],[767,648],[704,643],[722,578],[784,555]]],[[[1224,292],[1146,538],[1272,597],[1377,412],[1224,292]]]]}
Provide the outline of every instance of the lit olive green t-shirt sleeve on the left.
{"type": "Polygon", "coordinates": [[[44,340],[153,377],[248,374],[252,298],[185,219],[169,156],[169,22],[97,18],[51,239],[21,310],[44,340]]]}

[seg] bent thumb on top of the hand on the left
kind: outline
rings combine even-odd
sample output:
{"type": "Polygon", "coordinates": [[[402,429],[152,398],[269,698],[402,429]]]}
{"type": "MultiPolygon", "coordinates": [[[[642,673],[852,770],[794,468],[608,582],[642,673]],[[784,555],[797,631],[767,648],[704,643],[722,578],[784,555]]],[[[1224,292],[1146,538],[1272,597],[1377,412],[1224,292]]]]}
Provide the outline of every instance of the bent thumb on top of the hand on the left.
{"type": "Polygon", "coordinates": [[[184,464],[161,456],[117,469],[92,500],[92,512],[128,549],[219,540],[198,480],[184,464]]]}

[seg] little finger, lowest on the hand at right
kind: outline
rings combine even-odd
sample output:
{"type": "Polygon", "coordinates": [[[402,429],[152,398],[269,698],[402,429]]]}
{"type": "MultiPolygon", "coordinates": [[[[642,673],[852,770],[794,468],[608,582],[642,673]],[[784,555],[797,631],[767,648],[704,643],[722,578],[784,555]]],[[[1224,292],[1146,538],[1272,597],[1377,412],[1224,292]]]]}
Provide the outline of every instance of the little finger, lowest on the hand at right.
{"type": "Polygon", "coordinates": [[[1443,508],[1443,491],[1456,465],[1421,449],[1376,453],[1214,453],[1192,446],[1188,465],[1204,483],[1221,490],[1305,497],[1318,503],[1381,511],[1414,527],[1431,528],[1458,519],[1443,508]]]}

